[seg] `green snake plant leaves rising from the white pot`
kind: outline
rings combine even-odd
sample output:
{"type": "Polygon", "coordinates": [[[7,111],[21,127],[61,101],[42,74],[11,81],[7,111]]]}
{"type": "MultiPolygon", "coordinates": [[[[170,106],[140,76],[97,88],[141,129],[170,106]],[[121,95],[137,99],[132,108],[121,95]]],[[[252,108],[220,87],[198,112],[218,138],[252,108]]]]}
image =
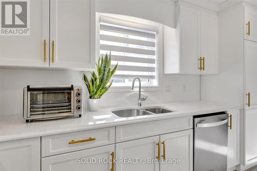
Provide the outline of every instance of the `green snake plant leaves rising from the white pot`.
{"type": "Polygon", "coordinates": [[[89,92],[89,99],[100,99],[112,86],[113,80],[110,83],[109,81],[116,72],[118,64],[111,69],[111,61],[111,52],[109,55],[106,53],[104,58],[102,56],[96,63],[97,73],[95,71],[91,72],[90,79],[83,74],[83,80],[89,92]]]}

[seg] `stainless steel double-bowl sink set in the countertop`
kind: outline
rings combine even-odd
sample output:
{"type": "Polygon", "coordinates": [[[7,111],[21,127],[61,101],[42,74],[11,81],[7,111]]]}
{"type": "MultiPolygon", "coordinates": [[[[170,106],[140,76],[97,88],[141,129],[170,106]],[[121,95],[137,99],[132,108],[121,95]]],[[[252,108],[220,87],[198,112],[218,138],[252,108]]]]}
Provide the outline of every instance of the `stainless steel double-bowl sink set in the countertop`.
{"type": "Polygon", "coordinates": [[[126,117],[138,117],[138,116],[153,115],[153,114],[160,114],[160,113],[169,113],[174,111],[164,109],[162,107],[149,107],[144,109],[121,109],[121,110],[114,110],[112,112],[118,117],[126,118],[126,117]]]}

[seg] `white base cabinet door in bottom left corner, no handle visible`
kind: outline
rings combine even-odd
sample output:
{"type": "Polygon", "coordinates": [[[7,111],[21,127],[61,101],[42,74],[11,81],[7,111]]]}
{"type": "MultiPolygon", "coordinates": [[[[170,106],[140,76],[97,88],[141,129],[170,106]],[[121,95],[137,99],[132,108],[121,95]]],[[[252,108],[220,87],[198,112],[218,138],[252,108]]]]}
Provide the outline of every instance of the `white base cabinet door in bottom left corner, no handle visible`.
{"type": "Polygon", "coordinates": [[[40,171],[40,138],[0,143],[1,171],[40,171]]]}

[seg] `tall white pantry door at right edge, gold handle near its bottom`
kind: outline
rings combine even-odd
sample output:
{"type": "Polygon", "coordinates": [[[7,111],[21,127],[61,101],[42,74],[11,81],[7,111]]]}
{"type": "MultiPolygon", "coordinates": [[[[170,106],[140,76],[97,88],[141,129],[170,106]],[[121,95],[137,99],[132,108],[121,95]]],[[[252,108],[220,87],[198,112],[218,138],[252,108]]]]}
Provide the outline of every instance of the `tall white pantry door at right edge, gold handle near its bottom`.
{"type": "Polygon", "coordinates": [[[245,108],[257,107],[257,43],[245,41],[245,108]],[[250,93],[250,97],[246,94],[250,93]],[[248,99],[249,98],[249,99],[248,99]],[[248,102],[250,101],[250,102],[248,102]],[[248,104],[250,104],[248,106],[248,104]]]}

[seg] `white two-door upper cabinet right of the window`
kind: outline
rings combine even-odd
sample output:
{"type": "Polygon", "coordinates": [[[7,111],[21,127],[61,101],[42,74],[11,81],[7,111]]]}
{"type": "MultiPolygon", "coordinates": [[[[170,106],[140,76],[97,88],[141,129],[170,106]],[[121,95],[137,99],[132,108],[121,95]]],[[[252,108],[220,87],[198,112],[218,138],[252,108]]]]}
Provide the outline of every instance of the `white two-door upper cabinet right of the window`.
{"type": "Polygon", "coordinates": [[[178,20],[164,26],[164,73],[217,74],[217,13],[180,5],[178,20]]]}

